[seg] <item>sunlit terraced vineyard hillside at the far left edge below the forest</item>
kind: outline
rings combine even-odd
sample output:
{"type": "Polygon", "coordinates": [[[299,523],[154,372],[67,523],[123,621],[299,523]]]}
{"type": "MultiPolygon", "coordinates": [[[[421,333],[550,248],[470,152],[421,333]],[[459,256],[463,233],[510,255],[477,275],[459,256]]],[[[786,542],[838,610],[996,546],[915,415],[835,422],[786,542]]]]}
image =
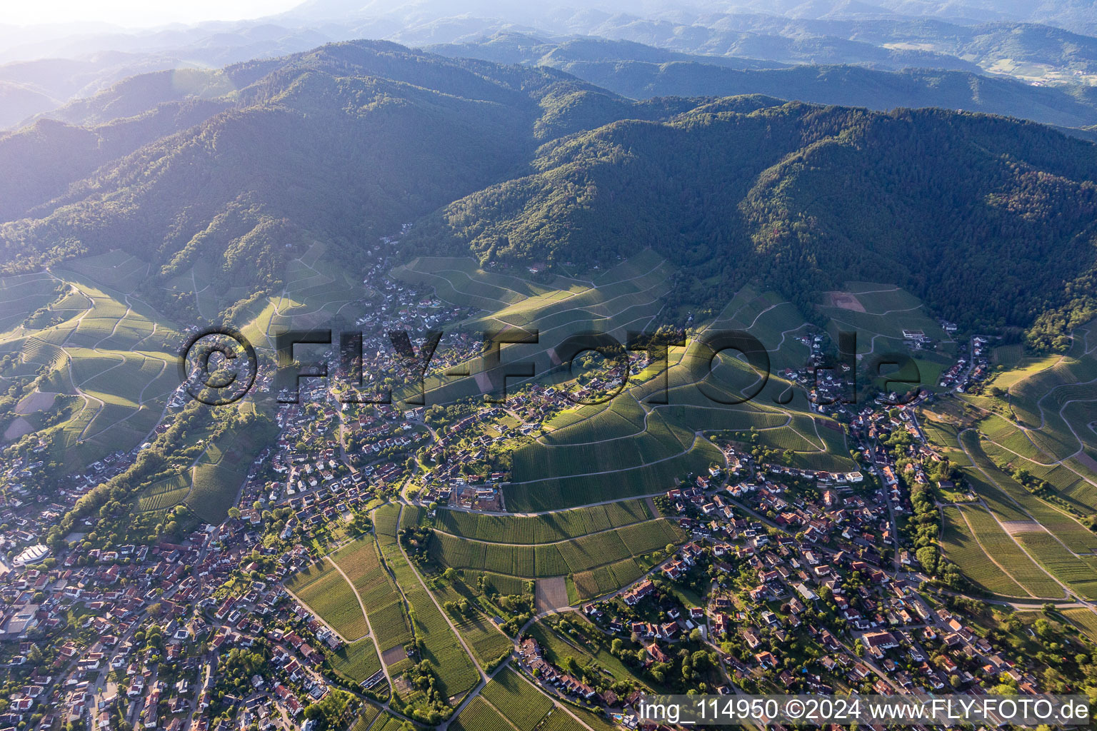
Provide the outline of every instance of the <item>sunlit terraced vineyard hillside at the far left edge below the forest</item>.
{"type": "Polygon", "coordinates": [[[0,278],[0,353],[19,356],[16,373],[44,368],[32,396],[45,398],[20,404],[20,433],[52,439],[67,469],[139,445],[180,385],[177,327],[132,296],[146,270],[113,252],[0,278]]]}

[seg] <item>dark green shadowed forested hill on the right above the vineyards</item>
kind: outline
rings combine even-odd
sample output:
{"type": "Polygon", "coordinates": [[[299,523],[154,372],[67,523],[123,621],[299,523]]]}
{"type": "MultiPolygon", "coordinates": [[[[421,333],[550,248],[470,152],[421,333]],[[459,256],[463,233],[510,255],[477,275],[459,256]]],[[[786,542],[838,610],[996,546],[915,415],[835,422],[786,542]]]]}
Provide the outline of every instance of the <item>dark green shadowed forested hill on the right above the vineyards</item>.
{"type": "Polygon", "coordinates": [[[1097,147],[1036,124],[716,103],[547,145],[534,167],[409,245],[550,263],[652,247],[693,275],[677,296],[714,306],[751,277],[805,306],[845,281],[894,282],[949,318],[1032,327],[1042,345],[1063,317],[1097,315],[1097,147]]]}

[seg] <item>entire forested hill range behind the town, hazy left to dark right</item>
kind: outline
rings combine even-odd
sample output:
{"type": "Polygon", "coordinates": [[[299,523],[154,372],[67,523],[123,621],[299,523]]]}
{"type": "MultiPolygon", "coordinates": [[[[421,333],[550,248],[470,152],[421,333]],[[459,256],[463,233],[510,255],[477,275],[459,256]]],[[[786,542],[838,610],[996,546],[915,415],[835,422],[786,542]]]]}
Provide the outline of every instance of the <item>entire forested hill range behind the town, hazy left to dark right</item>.
{"type": "Polygon", "coordinates": [[[133,79],[65,111],[83,126],[0,137],[7,271],[123,249],[152,265],[155,304],[201,264],[225,310],[314,242],[354,267],[418,220],[408,256],[601,264],[651,247],[699,306],[751,278],[804,305],[847,279],[894,282],[1042,344],[1097,315],[1097,148],[1032,123],[635,102],[551,68],[382,42],[185,81],[133,79]]]}

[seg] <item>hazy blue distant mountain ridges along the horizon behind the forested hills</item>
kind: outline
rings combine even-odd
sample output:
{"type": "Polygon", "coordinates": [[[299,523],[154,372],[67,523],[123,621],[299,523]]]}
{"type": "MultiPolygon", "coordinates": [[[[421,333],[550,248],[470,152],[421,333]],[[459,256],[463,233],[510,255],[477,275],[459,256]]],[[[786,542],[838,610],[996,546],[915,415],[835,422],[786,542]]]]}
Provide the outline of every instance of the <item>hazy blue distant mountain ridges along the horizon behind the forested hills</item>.
{"type": "MultiPolygon", "coordinates": [[[[695,60],[740,69],[857,65],[895,71],[966,71],[1013,76],[1055,85],[1067,95],[1088,96],[1097,83],[1097,39],[1085,35],[1097,25],[1084,20],[1097,18],[1093,3],[1041,3],[1034,12],[1029,3],[1015,4],[1005,9],[987,2],[774,4],[751,0],[734,4],[603,2],[576,9],[485,1],[456,9],[451,2],[434,0],[395,4],[325,0],[273,18],[139,32],[92,25],[66,35],[48,28],[19,33],[0,26],[0,128],[137,73],[218,68],[363,36],[409,46],[472,44],[478,48],[475,53],[437,50],[500,62],[507,62],[513,49],[499,44],[488,47],[483,38],[524,34],[574,46],[575,36],[588,36],[646,44],[647,50],[619,56],[649,64],[695,60]],[[1044,16],[1066,9],[1079,19],[1076,25],[1067,24],[1071,30],[1047,24],[1044,16]]],[[[519,55],[524,58],[529,50],[520,49],[519,55]]],[[[598,60],[581,57],[574,47],[564,54],[572,64],[598,60]]],[[[551,56],[542,62],[564,68],[563,60],[551,56]]],[[[572,70],[585,73],[578,66],[572,70]]],[[[587,73],[593,77],[596,71],[587,73]]],[[[597,73],[608,82],[604,70],[597,73]]]]}

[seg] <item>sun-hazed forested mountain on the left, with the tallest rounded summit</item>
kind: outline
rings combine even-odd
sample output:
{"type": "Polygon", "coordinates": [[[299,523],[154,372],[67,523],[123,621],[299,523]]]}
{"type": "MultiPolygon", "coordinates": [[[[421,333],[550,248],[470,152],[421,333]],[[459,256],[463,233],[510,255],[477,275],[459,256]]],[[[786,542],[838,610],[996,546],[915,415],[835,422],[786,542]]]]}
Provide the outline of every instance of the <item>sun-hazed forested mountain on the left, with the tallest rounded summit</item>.
{"type": "Polygon", "coordinates": [[[66,112],[93,126],[42,121],[0,138],[8,270],[121,248],[165,277],[204,260],[224,284],[261,288],[312,241],[350,260],[363,241],[528,172],[554,137],[694,105],[381,42],[237,65],[194,94],[173,96],[170,81],[129,80],[66,112]],[[101,123],[111,108],[133,116],[101,123]]]}

